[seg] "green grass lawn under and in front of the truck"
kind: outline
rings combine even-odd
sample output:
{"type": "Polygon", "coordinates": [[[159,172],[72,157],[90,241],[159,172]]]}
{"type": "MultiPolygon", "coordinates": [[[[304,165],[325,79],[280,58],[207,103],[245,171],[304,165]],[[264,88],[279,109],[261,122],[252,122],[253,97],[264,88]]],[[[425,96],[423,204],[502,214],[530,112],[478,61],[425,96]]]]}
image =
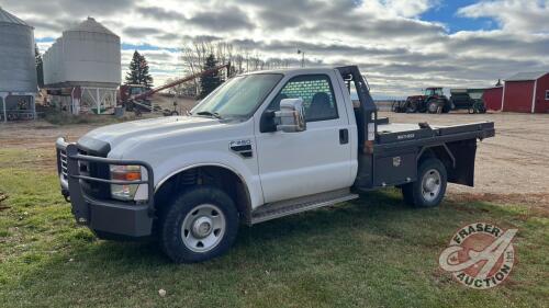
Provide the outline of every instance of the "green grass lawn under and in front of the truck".
{"type": "Polygon", "coordinates": [[[77,227],[53,160],[53,150],[0,149],[1,307],[548,307],[549,218],[525,205],[418,210],[388,190],[242,227],[228,254],[176,265],[155,243],[77,227]],[[490,290],[438,269],[453,232],[475,221],[519,229],[518,263],[490,290]]]}

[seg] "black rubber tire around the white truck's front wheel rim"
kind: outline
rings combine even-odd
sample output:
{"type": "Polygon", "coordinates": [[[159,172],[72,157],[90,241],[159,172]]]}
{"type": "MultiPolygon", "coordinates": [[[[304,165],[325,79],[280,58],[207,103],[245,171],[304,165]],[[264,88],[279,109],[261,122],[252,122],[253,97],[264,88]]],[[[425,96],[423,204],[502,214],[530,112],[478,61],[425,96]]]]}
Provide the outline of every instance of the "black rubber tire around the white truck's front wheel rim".
{"type": "MultiPolygon", "coordinates": [[[[197,215],[197,214],[194,214],[197,215]]],[[[220,213],[217,213],[220,215],[220,213]]],[[[200,217],[199,217],[200,218],[200,217]]],[[[197,221],[194,219],[194,221],[197,221]]],[[[160,216],[159,243],[163,251],[176,263],[192,263],[210,260],[225,253],[234,243],[238,231],[238,210],[233,199],[222,190],[212,186],[194,186],[173,199],[160,216]],[[186,217],[192,218],[197,208],[213,205],[221,209],[225,227],[215,246],[206,251],[193,251],[186,244],[183,230],[186,217]]],[[[215,232],[211,227],[210,233],[215,232]]],[[[187,236],[188,237],[188,236],[187,236]]],[[[200,243],[200,241],[199,241],[200,243]]],[[[202,244],[204,247],[204,244],[202,244]]],[[[195,249],[200,246],[194,247],[195,249]]]]}

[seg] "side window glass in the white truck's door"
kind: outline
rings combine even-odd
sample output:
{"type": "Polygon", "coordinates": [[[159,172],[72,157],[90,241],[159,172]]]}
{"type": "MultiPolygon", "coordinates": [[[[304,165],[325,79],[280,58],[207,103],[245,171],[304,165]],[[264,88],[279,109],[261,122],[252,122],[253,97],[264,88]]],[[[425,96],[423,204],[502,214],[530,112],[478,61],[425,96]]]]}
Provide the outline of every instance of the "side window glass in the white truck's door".
{"type": "Polygon", "coordinates": [[[269,109],[280,110],[283,99],[302,99],[306,122],[337,118],[334,90],[329,77],[325,75],[304,75],[290,79],[269,109]]]}

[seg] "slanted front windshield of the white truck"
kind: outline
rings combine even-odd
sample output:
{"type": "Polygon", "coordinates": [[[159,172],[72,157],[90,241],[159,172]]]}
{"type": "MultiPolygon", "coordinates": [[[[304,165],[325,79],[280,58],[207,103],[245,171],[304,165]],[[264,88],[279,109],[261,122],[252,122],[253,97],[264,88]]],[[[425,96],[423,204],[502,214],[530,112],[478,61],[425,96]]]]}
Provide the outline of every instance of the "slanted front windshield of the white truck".
{"type": "Polygon", "coordinates": [[[220,118],[248,118],[280,81],[279,73],[256,73],[235,77],[192,109],[192,115],[220,118]]]}

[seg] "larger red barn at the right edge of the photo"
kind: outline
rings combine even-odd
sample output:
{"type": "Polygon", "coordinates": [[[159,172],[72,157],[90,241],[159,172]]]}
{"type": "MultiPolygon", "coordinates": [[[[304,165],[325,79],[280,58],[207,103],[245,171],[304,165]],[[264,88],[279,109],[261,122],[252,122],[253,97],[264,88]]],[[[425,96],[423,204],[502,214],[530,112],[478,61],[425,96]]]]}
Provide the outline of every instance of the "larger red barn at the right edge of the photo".
{"type": "Polygon", "coordinates": [[[502,111],[549,112],[549,72],[520,72],[505,80],[502,111]]]}

